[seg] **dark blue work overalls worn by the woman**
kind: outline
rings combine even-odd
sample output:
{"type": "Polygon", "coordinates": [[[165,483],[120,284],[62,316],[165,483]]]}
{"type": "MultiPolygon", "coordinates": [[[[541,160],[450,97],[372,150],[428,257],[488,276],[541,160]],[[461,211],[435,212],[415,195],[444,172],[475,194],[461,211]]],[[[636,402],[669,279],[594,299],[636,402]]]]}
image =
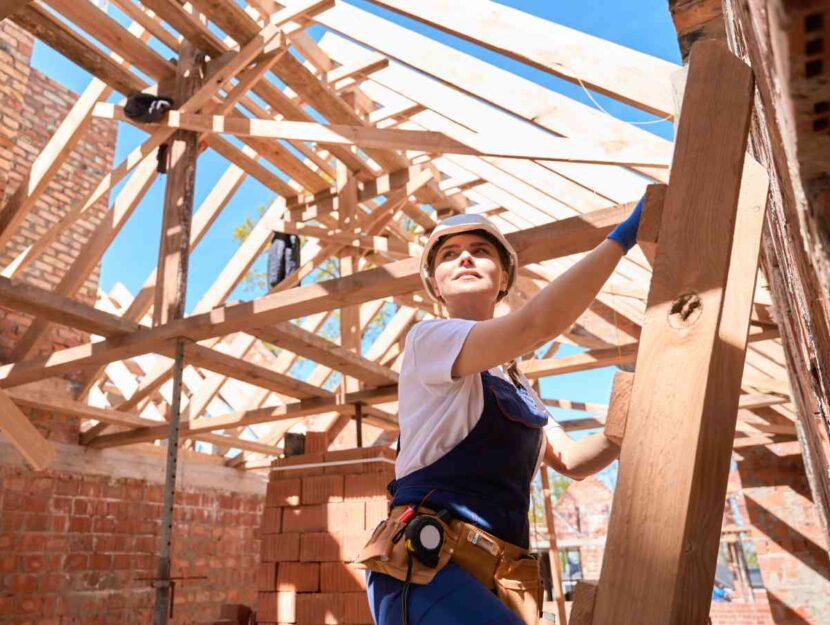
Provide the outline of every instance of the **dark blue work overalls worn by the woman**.
{"type": "MultiPolygon", "coordinates": [[[[530,482],[548,415],[528,391],[481,373],[484,408],[464,440],[432,464],[390,484],[392,505],[448,509],[502,540],[529,546],[530,482]]],[[[403,583],[367,573],[369,605],[377,625],[400,625],[403,583]]],[[[516,624],[522,621],[489,589],[450,562],[425,586],[409,590],[410,625],[516,624]]]]}

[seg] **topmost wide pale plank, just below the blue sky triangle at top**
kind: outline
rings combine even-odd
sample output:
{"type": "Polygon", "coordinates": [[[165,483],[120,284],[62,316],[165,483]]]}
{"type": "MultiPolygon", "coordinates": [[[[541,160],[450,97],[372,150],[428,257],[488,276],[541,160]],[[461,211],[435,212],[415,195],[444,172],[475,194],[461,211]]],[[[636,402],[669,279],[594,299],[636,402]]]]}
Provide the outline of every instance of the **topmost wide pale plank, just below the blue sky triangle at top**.
{"type": "Polygon", "coordinates": [[[674,116],[671,77],[681,68],[663,59],[490,0],[477,0],[475,11],[452,0],[372,2],[654,115],[674,116]]]}

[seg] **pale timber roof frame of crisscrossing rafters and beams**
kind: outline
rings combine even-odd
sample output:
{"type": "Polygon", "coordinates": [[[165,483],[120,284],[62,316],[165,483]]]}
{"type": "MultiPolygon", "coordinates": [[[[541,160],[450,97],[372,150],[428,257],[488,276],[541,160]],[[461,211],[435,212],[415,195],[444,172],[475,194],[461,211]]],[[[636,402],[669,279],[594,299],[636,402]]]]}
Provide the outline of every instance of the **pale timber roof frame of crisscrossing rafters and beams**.
{"type": "MultiPolygon", "coordinates": [[[[672,84],[681,68],[661,59],[490,0],[476,0],[472,14],[447,0],[373,3],[666,123],[677,114],[672,84]]],[[[181,399],[186,444],[199,441],[196,449],[239,469],[267,467],[298,424],[326,432],[331,444],[354,420],[358,444],[390,445],[403,339],[419,319],[442,314],[421,289],[417,259],[436,221],[453,213],[487,215],[514,243],[522,269],[505,306],[520,306],[601,242],[648,187],[646,214],[654,221],[644,219],[642,245],[576,324],[522,367],[533,379],[607,366],[630,370],[639,346],[647,344],[659,211],[664,198],[678,202],[665,186],[672,142],[335,0],[192,0],[186,6],[113,0],[110,12],[131,22],[126,27],[123,19],[74,0],[18,1],[7,10],[0,18],[94,78],[31,166],[26,184],[0,205],[4,247],[93,117],[131,123],[123,101],[107,102],[112,93],[172,93],[177,63],[168,59],[178,59],[183,41],[206,58],[203,80],[176,110],[158,124],[137,125],[147,133],[144,142],[46,236],[14,249],[14,260],[2,268],[0,302],[33,317],[0,366],[2,427],[34,467],[46,466],[52,450],[26,418],[30,408],[81,419],[80,444],[103,448],[163,442],[171,406],[181,399]],[[313,24],[324,30],[319,41],[306,32],[313,24]],[[248,178],[271,199],[268,209],[184,318],[154,306],[170,305],[178,278],[169,267],[160,278],[153,271],[134,296],[116,288],[100,293],[94,307],[77,301],[80,285],[156,179],[159,146],[183,131],[228,165],[193,212],[187,235],[168,245],[178,245],[184,256],[192,251],[248,178]],[[47,291],[27,281],[27,268],[61,232],[122,181],[86,253],[59,285],[47,291]],[[268,294],[229,303],[274,230],[304,237],[301,268],[268,294]],[[323,280],[317,269],[331,259],[340,275],[323,280]],[[320,334],[335,314],[339,341],[320,334]],[[383,327],[367,332],[378,319],[383,327]],[[102,340],[45,353],[51,324],[102,340]],[[177,344],[184,345],[180,398],[171,390],[177,344]],[[585,351],[556,356],[563,344],[585,351]],[[310,373],[293,373],[300,361],[313,363],[310,373]],[[80,375],[74,397],[41,388],[41,381],[69,373],[80,375]],[[341,382],[330,390],[332,376],[341,382]]],[[[194,167],[197,162],[195,155],[194,167]]],[[[762,168],[751,156],[746,162],[751,172],[744,172],[744,182],[755,185],[746,192],[754,192],[763,209],[762,168]]],[[[192,189],[178,191],[192,197],[192,189]]],[[[785,349],[793,348],[782,344],[776,323],[781,302],[773,301],[756,257],[742,268],[743,285],[755,285],[745,293],[748,330],[740,323],[734,329],[738,335],[746,330],[745,364],[741,358],[730,365],[737,376],[738,446],[795,440],[803,415],[790,384],[807,383],[783,364],[785,349]]],[[[823,362],[829,357],[821,355],[823,362]]],[[[799,388],[796,395],[804,395],[799,388]]],[[[632,401],[637,396],[635,382],[632,401]]],[[[575,407],[567,397],[546,402],[575,407]]],[[[607,408],[584,408],[590,415],[567,422],[566,429],[603,426],[607,408]]],[[[600,590],[598,609],[610,606],[600,590]]]]}

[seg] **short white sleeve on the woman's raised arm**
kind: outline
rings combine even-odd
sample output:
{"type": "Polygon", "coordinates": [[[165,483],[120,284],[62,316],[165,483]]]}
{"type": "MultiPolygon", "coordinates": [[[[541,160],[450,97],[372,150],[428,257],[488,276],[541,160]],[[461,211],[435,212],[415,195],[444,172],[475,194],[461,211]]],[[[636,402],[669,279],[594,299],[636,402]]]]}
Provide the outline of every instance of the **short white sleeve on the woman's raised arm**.
{"type": "Polygon", "coordinates": [[[451,384],[452,366],[475,323],[470,319],[430,319],[415,325],[405,347],[411,352],[412,374],[422,384],[451,384]]]}

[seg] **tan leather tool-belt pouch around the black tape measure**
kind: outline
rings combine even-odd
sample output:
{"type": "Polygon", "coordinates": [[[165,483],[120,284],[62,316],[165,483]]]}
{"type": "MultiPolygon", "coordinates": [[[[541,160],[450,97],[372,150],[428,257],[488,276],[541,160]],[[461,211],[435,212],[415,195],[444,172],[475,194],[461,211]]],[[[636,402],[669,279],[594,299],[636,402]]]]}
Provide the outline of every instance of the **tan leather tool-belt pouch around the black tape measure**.
{"type": "MultiPolygon", "coordinates": [[[[372,532],[369,542],[360,550],[353,565],[377,573],[384,573],[402,582],[406,581],[408,562],[406,545],[403,538],[397,542],[393,540],[403,527],[403,524],[398,521],[398,517],[402,512],[403,510],[378,524],[375,531],[372,532]]],[[[458,534],[445,523],[442,522],[441,525],[444,527],[444,544],[438,557],[438,565],[435,568],[430,568],[413,557],[411,577],[413,584],[430,583],[438,571],[443,569],[452,558],[453,547],[458,539],[458,534]]]]}

